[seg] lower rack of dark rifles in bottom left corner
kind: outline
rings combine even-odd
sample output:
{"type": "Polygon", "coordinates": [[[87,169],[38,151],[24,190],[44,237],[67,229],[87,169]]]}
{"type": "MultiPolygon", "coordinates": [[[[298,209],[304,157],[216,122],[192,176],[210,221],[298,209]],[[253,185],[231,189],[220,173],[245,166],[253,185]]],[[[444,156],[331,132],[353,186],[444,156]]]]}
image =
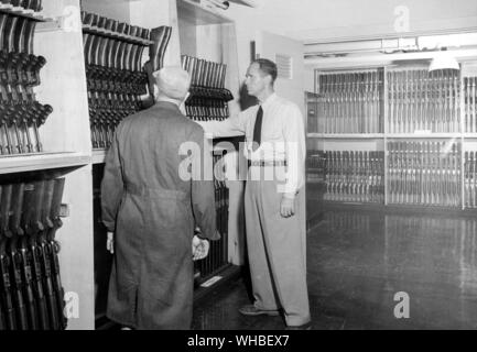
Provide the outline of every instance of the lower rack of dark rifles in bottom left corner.
{"type": "Polygon", "coordinates": [[[0,330],[63,330],[55,233],[64,178],[0,185],[0,330]]]}

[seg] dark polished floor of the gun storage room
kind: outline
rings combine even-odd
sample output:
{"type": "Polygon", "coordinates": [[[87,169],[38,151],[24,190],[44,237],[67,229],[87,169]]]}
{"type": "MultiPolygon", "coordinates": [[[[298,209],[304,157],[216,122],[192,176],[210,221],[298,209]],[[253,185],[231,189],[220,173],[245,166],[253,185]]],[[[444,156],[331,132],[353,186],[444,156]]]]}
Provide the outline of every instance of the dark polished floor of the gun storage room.
{"type": "MultiPolygon", "coordinates": [[[[307,238],[313,329],[477,329],[476,219],[325,211],[307,238]]],[[[280,317],[239,315],[247,283],[242,276],[196,304],[193,329],[283,329],[280,317]]]]}

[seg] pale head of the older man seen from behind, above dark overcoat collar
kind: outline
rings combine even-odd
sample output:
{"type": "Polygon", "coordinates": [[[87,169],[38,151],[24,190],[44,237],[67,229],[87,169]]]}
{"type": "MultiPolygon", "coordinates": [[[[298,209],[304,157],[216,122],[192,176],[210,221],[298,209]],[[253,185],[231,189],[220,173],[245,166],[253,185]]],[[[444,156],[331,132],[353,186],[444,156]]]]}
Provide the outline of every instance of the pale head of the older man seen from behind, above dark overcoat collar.
{"type": "Polygon", "coordinates": [[[183,100],[191,87],[188,73],[178,66],[165,66],[153,74],[159,89],[159,98],[183,100]]]}

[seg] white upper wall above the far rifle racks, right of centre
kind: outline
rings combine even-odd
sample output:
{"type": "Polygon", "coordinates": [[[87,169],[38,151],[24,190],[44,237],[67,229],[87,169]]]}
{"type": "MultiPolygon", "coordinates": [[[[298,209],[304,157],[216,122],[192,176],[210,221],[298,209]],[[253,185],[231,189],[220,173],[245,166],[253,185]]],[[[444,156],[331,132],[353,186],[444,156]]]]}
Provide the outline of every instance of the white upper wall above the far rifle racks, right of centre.
{"type": "Polygon", "coordinates": [[[475,0],[261,0],[259,8],[231,3],[224,14],[237,25],[240,76],[250,62],[250,41],[264,30],[301,41],[394,32],[398,6],[409,8],[410,31],[477,25],[475,0]]]}

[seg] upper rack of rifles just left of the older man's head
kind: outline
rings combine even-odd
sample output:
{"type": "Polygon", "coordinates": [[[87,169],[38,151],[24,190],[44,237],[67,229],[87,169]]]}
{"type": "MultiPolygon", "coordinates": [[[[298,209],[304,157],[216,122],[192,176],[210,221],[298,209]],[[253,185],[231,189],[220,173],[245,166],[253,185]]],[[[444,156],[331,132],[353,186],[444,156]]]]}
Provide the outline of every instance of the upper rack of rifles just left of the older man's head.
{"type": "Polygon", "coordinates": [[[142,54],[149,46],[149,73],[160,69],[172,28],[147,30],[84,11],[82,21],[91,143],[107,148],[117,125],[145,108],[141,96],[153,90],[142,54]]]}

